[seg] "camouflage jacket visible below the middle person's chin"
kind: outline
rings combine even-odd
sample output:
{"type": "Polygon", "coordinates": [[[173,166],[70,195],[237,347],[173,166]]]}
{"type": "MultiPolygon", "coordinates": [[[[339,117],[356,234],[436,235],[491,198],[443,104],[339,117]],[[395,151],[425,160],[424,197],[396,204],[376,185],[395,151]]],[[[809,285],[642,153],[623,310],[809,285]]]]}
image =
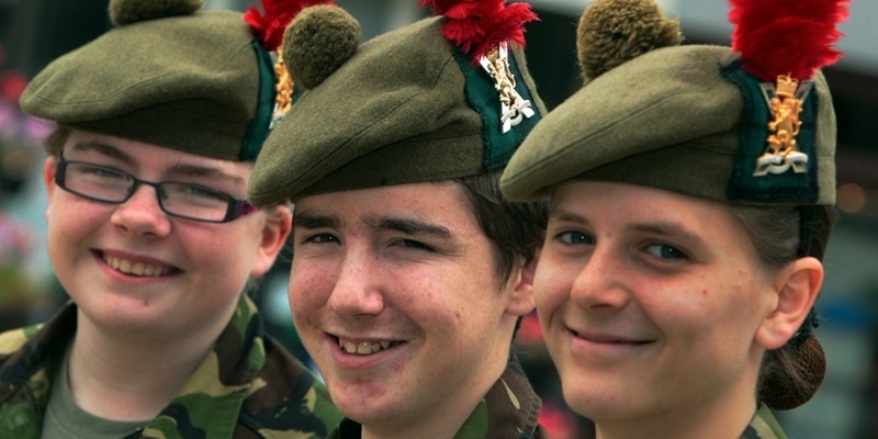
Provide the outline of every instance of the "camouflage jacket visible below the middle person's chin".
{"type": "MultiPolygon", "coordinates": [[[[545,429],[537,423],[541,408],[540,397],[513,357],[454,439],[545,439],[545,429]]],[[[346,418],[326,439],[360,439],[360,425],[346,418]]]]}

